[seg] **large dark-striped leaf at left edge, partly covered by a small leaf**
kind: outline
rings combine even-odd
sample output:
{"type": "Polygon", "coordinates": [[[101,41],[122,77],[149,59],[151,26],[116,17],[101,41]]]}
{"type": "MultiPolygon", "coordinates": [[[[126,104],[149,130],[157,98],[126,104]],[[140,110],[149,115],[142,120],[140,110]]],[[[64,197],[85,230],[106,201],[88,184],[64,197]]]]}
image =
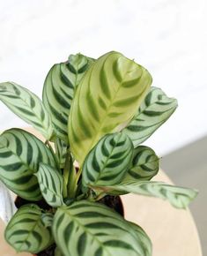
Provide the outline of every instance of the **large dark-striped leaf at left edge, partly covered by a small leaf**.
{"type": "Polygon", "coordinates": [[[0,135],[0,179],[26,200],[41,199],[38,180],[33,175],[40,162],[55,167],[48,147],[33,134],[11,129],[0,135]]]}

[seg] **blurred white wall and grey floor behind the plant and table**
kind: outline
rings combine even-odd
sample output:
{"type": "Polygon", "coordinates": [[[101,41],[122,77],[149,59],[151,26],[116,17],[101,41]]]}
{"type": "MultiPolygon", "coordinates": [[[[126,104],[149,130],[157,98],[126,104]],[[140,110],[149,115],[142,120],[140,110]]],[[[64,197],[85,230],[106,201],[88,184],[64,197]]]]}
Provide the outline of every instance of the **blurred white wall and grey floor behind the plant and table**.
{"type": "MultiPolygon", "coordinates": [[[[145,145],[175,184],[197,188],[191,210],[207,255],[207,2],[205,0],[0,0],[0,81],[41,96],[50,67],[81,52],[110,50],[152,73],[178,99],[173,117],[145,145]]],[[[0,103],[0,130],[26,126],[0,103]]],[[[196,255],[195,255],[196,256],[196,255]]]]}

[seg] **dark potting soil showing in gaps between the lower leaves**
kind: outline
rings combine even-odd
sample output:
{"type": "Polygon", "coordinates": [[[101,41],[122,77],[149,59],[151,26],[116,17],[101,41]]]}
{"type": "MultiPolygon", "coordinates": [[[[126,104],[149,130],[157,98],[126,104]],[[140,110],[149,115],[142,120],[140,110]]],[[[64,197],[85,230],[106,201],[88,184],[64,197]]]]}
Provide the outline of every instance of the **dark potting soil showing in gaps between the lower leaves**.
{"type": "MultiPolygon", "coordinates": [[[[101,200],[99,200],[98,202],[100,202],[100,204],[104,204],[105,206],[114,209],[115,212],[117,212],[120,215],[124,215],[123,212],[123,206],[122,206],[122,200],[119,196],[105,196],[104,198],[102,198],[101,200]]],[[[24,200],[20,197],[17,197],[17,199],[15,200],[15,205],[17,208],[26,205],[26,204],[31,204],[33,202],[28,201],[28,200],[24,200]]],[[[39,207],[41,207],[42,209],[45,210],[49,210],[51,209],[50,206],[48,206],[47,202],[45,200],[40,200],[38,202],[34,202],[36,205],[38,205],[39,207]]],[[[46,250],[39,252],[37,254],[37,256],[54,256],[55,255],[55,247],[56,245],[53,244],[51,246],[49,246],[46,250]]]]}

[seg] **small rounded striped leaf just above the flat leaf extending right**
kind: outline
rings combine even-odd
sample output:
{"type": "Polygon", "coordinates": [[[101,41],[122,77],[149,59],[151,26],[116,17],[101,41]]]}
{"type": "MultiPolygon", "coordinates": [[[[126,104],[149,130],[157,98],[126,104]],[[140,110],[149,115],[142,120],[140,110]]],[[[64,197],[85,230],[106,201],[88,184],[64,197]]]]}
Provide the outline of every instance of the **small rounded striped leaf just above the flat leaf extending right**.
{"type": "Polygon", "coordinates": [[[159,171],[159,157],[150,147],[138,146],[134,150],[132,166],[124,180],[150,180],[159,171]]]}

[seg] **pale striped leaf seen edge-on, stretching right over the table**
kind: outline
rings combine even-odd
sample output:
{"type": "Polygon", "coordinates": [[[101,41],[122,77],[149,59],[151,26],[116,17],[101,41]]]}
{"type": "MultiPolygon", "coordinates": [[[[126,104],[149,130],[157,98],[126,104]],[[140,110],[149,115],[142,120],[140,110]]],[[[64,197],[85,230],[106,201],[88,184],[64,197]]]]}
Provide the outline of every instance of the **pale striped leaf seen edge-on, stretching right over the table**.
{"type": "MultiPolygon", "coordinates": [[[[110,191],[132,192],[145,196],[168,200],[172,206],[186,208],[196,198],[196,190],[155,181],[125,181],[122,184],[107,187],[110,191]]],[[[106,190],[106,188],[105,188],[106,190]]]]}

